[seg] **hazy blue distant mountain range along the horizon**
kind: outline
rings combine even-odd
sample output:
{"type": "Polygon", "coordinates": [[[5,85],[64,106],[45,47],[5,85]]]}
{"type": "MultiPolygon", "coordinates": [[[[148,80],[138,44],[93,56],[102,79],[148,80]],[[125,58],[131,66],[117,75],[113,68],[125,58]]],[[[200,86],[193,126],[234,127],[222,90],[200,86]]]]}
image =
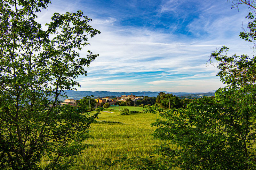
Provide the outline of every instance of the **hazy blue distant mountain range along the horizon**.
{"type": "MultiPolygon", "coordinates": [[[[85,96],[91,96],[93,95],[94,97],[107,97],[107,96],[115,96],[115,97],[120,97],[122,95],[129,95],[133,94],[135,96],[149,96],[149,97],[156,97],[159,92],[108,92],[108,91],[96,91],[96,92],[91,92],[91,91],[74,91],[74,90],[65,90],[64,91],[69,99],[75,99],[79,100],[82,99],[85,96]]],[[[205,94],[205,95],[212,95],[214,92],[209,92],[209,93],[188,93],[188,92],[165,92],[165,93],[172,93],[172,95],[175,96],[187,96],[189,94],[205,94]]],[[[61,99],[61,100],[64,100],[61,99]]]]}

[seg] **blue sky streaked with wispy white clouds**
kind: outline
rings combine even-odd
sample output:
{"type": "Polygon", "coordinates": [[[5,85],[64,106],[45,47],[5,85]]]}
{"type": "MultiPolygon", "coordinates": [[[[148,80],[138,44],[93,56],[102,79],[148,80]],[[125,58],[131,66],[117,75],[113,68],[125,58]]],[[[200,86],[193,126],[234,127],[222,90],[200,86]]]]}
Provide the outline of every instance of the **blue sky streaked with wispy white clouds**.
{"type": "Polygon", "coordinates": [[[80,51],[99,57],[76,79],[79,91],[211,92],[225,86],[206,64],[213,51],[225,45],[228,55],[253,55],[239,38],[249,10],[226,0],[52,0],[38,22],[77,10],[101,32],[80,51]]]}

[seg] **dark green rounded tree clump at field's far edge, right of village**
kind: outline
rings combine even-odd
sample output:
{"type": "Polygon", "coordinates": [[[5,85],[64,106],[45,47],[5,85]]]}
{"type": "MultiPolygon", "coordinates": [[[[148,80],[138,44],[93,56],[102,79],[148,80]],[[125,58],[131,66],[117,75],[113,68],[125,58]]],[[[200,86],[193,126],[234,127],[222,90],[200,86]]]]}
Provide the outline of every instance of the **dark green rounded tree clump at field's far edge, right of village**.
{"type": "Polygon", "coordinates": [[[160,92],[156,98],[156,104],[160,105],[161,107],[165,108],[180,108],[182,107],[182,102],[180,98],[177,96],[173,96],[172,94],[166,94],[164,92],[160,92]]]}

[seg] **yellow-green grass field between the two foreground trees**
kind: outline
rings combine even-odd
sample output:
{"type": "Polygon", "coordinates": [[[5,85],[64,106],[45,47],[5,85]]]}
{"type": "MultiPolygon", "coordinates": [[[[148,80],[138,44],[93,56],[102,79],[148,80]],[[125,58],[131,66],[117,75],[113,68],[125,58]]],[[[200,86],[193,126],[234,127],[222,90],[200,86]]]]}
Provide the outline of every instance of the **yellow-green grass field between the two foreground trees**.
{"type": "MultiPolygon", "coordinates": [[[[120,107],[122,110],[124,107],[120,107]]],[[[129,110],[143,111],[143,107],[128,107],[129,110]]],[[[152,137],[156,127],[150,124],[159,118],[151,113],[139,113],[132,115],[120,115],[119,107],[109,107],[111,112],[101,112],[98,122],[111,121],[119,123],[93,123],[90,131],[94,137],[85,141],[86,144],[92,144],[91,147],[82,153],[82,157],[76,160],[77,166],[74,169],[96,169],[92,166],[107,169],[103,165],[103,160],[110,158],[115,160],[117,155],[127,154],[128,158],[141,156],[146,157],[154,151],[154,145],[161,141],[152,137]]],[[[93,114],[95,112],[91,112],[93,114]]],[[[121,164],[116,164],[110,169],[121,169],[121,164]]]]}

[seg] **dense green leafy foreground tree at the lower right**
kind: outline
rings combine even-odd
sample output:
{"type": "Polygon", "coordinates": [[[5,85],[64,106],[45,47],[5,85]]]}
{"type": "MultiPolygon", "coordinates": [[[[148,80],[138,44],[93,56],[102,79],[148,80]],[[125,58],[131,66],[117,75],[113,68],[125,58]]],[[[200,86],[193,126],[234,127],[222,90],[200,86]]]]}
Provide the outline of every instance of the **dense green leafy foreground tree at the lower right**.
{"type": "MultiPolygon", "coordinates": [[[[236,59],[231,59],[227,65],[236,59]]],[[[249,63],[242,60],[243,57],[238,63],[250,67],[249,63],[256,58],[249,63]]],[[[219,74],[223,82],[228,83],[233,75],[225,76],[225,67],[219,66],[219,74]]],[[[215,92],[215,98],[192,100],[186,109],[165,112],[159,107],[151,108],[151,112],[159,112],[166,120],[153,123],[159,127],[154,137],[168,141],[157,150],[164,155],[166,168],[255,169],[256,86],[247,83],[228,83],[215,92]]]]}

